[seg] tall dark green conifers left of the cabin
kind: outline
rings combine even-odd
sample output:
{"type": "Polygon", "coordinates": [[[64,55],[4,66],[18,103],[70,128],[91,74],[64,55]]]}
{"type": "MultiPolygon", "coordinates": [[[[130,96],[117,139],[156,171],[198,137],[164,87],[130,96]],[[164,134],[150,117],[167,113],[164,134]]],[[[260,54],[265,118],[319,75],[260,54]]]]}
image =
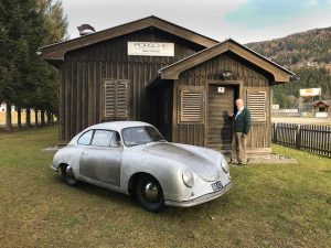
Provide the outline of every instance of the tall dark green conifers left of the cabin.
{"type": "Polygon", "coordinates": [[[21,108],[57,111],[58,72],[38,56],[36,51],[63,41],[66,29],[58,0],[0,0],[0,100],[18,107],[19,125],[21,108]]]}

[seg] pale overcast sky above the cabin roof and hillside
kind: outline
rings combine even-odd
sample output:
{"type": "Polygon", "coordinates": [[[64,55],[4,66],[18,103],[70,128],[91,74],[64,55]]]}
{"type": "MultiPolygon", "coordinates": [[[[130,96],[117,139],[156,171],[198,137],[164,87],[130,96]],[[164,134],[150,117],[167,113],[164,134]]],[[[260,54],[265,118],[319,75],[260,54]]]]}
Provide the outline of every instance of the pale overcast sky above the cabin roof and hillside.
{"type": "Polygon", "coordinates": [[[331,0],[63,0],[68,35],[156,15],[205,36],[243,44],[331,26],[331,0]]]}

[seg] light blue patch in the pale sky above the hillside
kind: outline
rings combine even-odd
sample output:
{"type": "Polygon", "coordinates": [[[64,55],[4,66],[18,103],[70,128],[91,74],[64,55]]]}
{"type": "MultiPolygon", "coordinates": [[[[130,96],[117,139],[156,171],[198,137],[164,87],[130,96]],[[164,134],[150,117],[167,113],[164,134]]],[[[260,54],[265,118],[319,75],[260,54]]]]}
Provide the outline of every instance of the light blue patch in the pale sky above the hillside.
{"type": "Polygon", "coordinates": [[[330,12],[330,0],[247,0],[224,21],[246,29],[266,29],[298,19],[311,11],[330,12]]]}

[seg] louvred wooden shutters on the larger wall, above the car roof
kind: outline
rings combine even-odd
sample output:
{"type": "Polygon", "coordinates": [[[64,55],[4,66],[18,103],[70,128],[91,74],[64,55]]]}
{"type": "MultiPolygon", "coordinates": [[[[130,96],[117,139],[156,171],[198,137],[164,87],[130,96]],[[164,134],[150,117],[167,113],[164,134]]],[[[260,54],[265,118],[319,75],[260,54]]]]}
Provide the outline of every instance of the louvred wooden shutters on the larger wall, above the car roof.
{"type": "Polygon", "coordinates": [[[128,80],[105,80],[105,107],[106,118],[128,118],[128,80]]]}

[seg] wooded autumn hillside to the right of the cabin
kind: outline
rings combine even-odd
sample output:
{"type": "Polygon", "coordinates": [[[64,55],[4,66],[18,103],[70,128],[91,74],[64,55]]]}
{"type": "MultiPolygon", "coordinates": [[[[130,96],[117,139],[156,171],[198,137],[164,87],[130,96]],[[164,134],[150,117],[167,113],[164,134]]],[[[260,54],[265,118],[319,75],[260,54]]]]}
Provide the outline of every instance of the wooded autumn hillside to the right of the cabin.
{"type": "Polygon", "coordinates": [[[246,46],[291,69],[300,78],[275,87],[274,104],[298,108],[300,88],[322,88],[322,99],[331,99],[331,26],[246,46]]]}

